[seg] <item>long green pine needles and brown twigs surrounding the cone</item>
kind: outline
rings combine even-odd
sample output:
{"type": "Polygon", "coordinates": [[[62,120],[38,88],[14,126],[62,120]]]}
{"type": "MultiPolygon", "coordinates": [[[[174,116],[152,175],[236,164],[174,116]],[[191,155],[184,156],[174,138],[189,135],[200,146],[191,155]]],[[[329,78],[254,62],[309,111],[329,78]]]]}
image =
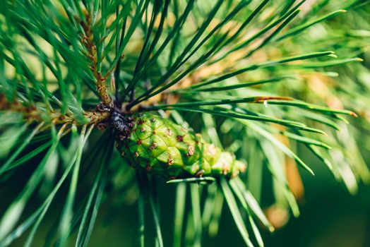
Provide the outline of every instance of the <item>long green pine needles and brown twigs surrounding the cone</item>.
{"type": "Polygon", "coordinates": [[[130,203],[140,246],[201,246],[217,235],[223,206],[246,245],[263,246],[258,223],[274,230],[261,209],[263,167],[269,203],[298,216],[287,169],[315,173],[303,147],[356,193],[370,181],[369,13],[357,0],[1,1],[0,184],[23,174],[23,186],[4,195],[0,246],[44,238],[37,229],[51,209],[59,214],[44,246],[87,246],[100,207],[114,215],[130,203]],[[177,195],[174,239],[165,239],[163,180],[122,159],[113,112],[200,132],[246,173],[168,181],[177,195]]]}

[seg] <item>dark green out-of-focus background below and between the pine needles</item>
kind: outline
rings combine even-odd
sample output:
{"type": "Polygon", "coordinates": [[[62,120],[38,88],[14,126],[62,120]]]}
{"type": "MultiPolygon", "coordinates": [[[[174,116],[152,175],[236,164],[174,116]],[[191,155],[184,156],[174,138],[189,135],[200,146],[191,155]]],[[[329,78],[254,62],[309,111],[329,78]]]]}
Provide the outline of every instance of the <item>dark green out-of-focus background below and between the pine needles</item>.
{"type": "MultiPolygon", "coordinates": [[[[301,215],[298,218],[290,216],[287,224],[273,234],[262,230],[265,246],[370,246],[370,186],[360,185],[357,195],[350,195],[344,185],[335,181],[324,164],[316,157],[307,155],[309,152],[305,151],[305,147],[299,148],[302,158],[311,164],[316,176],[312,177],[300,170],[304,183],[304,198],[299,202],[301,215]]],[[[31,170],[32,167],[30,167],[31,170]]],[[[267,178],[268,171],[265,171],[265,174],[267,178]]],[[[25,172],[24,175],[27,176],[27,173],[25,172]]],[[[10,199],[16,195],[14,192],[23,186],[19,183],[22,179],[19,179],[18,185],[13,184],[1,188],[1,190],[7,190],[8,198],[3,199],[10,199]]],[[[160,200],[163,202],[160,208],[162,234],[165,246],[172,246],[175,186],[161,183],[158,186],[161,191],[160,200]]],[[[268,195],[267,187],[263,188],[263,198],[271,197],[268,195]]],[[[201,189],[201,186],[199,188],[201,189]]],[[[54,205],[55,207],[52,207],[54,213],[50,215],[58,217],[58,205],[63,205],[63,202],[56,201],[54,205]]],[[[262,201],[262,206],[267,205],[268,201],[265,203],[262,201]]],[[[108,205],[105,203],[98,216],[90,246],[136,246],[138,218],[136,204],[124,205],[119,212],[113,215],[107,209],[108,205]]],[[[1,210],[4,209],[1,208],[1,210]]],[[[52,217],[46,219],[33,246],[43,246],[47,231],[54,220],[52,217]]],[[[147,234],[145,242],[147,246],[150,246],[154,243],[155,229],[153,222],[146,220],[148,224],[145,229],[147,234]]],[[[22,246],[23,241],[24,237],[16,241],[13,246],[22,246]]],[[[71,246],[73,246],[72,242],[71,246]]],[[[244,241],[227,207],[223,209],[218,236],[203,236],[203,246],[244,246],[244,241]]]]}

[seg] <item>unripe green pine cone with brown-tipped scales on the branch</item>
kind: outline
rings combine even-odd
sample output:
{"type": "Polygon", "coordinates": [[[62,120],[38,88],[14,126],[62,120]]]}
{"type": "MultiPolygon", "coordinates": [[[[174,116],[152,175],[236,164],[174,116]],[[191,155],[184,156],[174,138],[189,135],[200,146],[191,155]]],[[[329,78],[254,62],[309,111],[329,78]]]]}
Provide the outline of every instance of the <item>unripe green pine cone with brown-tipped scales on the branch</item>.
{"type": "Polygon", "coordinates": [[[154,114],[133,114],[130,131],[119,136],[117,148],[132,167],[169,179],[232,178],[246,169],[244,162],[205,143],[200,134],[154,114]]]}

